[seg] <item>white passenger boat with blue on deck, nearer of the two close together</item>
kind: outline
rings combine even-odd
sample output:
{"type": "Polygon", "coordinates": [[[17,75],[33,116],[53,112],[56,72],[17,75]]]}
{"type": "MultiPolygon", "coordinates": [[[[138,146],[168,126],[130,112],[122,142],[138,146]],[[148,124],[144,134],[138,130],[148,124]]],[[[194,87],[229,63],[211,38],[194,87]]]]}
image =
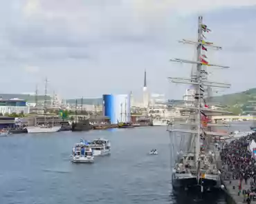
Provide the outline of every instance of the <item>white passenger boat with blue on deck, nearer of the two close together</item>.
{"type": "Polygon", "coordinates": [[[93,163],[94,156],[93,150],[89,145],[84,143],[77,143],[73,147],[72,152],[72,162],[73,163],[93,163]]]}

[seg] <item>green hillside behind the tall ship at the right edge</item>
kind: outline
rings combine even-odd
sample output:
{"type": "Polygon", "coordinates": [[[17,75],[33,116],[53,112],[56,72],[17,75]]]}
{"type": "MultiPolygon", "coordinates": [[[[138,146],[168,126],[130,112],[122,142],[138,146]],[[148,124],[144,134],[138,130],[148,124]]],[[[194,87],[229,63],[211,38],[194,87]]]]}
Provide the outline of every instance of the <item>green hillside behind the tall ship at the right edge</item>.
{"type": "Polygon", "coordinates": [[[227,105],[228,110],[233,112],[233,114],[242,114],[245,111],[253,110],[253,108],[246,108],[246,106],[252,105],[248,101],[256,101],[256,88],[244,92],[212,97],[212,102],[227,105]]]}

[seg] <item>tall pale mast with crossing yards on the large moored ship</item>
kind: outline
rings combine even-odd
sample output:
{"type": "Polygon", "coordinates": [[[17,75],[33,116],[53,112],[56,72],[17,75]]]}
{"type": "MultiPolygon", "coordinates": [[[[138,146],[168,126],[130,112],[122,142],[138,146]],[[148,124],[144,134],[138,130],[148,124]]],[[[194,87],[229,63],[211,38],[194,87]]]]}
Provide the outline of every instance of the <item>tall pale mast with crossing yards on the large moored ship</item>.
{"type": "MultiPolygon", "coordinates": [[[[228,83],[217,83],[214,81],[208,81],[208,72],[206,72],[207,67],[217,67],[217,68],[228,68],[223,65],[216,65],[212,63],[208,63],[205,60],[205,54],[203,54],[202,50],[207,51],[209,48],[213,48],[216,50],[221,50],[221,47],[213,45],[213,43],[204,41],[205,37],[203,32],[210,32],[207,26],[203,25],[203,17],[199,17],[198,19],[198,37],[197,41],[188,41],[183,39],[179,41],[184,44],[196,45],[196,61],[190,61],[185,59],[171,59],[170,61],[181,62],[181,63],[190,63],[196,65],[196,73],[192,74],[190,78],[183,77],[169,77],[171,82],[173,83],[183,83],[183,84],[191,84],[194,86],[195,94],[194,94],[194,103],[190,102],[190,105],[175,105],[177,108],[185,108],[192,112],[192,117],[190,116],[190,120],[192,119],[192,123],[188,124],[192,126],[192,130],[170,130],[170,132],[183,132],[190,133],[193,135],[192,143],[194,143],[194,163],[196,164],[197,175],[199,175],[199,171],[201,170],[201,161],[199,159],[200,156],[200,137],[201,135],[210,135],[210,136],[224,136],[224,134],[219,134],[217,132],[211,132],[209,130],[203,130],[202,126],[202,116],[205,116],[204,112],[217,112],[217,113],[228,113],[226,110],[211,110],[206,107],[205,99],[204,99],[204,89],[207,87],[210,90],[210,87],[218,87],[218,88],[230,88],[230,84],[228,83]],[[203,103],[205,106],[203,106],[203,103]]],[[[208,94],[209,96],[210,94],[208,94]]],[[[191,115],[191,114],[190,114],[191,115]]],[[[207,116],[205,116],[207,118],[207,116]]],[[[184,124],[183,124],[184,125],[184,124]]],[[[199,179],[199,177],[198,177],[199,179]]],[[[199,180],[198,180],[199,181],[199,180]]]]}

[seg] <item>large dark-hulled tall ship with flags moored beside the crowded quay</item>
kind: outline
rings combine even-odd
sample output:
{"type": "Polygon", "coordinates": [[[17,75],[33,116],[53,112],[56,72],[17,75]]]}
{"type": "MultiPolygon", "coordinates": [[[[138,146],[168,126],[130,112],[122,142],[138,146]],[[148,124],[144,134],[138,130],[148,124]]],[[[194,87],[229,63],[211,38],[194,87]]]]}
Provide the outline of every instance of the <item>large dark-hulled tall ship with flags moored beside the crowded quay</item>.
{"type": "Polygon", "coordinates": [[[214,146],[215,137],[229,136],[215,130],[219,124],[211,121],[214,114],[228,112],[211,103],[212,88],[230,88],[228,83],[209,81],[208,68],[228,68],[222,65],[208,63],[208,49],[221,50],[221,47],[205,41],[205,34],[211,30],[203,24],[203,17],[198,19],[198,39],[190,41],[183,39],[183,44],[194,45],[196,60],[171,59],[170,61],[192,64],[189,78],[169,78],[172,83],[190,84],[194,90],[190,100],[176,101],[172,105],[185,113],[185,119],[174,119],[168,128],[171,139],[172,185],[174,189],[200,187],[212,189],[220,187],[220,172],[217,168],[219,150],[214,146]]]}

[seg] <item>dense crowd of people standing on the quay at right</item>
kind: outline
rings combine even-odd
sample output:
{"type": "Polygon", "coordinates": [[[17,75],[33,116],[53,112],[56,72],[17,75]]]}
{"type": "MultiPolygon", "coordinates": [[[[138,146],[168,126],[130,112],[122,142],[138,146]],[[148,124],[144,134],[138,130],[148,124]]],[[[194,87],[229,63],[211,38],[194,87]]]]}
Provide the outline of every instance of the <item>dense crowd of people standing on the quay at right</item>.
{"type": "Polygon", "coordinates": [[[232,180],[239,181],[238,195],[242,194],[246,203],[256,200],[256,159],[250,150],[253,140],[256,141],[256,133],[223,143],[221,150],[223,176],[230,184],[232,180]]]}

